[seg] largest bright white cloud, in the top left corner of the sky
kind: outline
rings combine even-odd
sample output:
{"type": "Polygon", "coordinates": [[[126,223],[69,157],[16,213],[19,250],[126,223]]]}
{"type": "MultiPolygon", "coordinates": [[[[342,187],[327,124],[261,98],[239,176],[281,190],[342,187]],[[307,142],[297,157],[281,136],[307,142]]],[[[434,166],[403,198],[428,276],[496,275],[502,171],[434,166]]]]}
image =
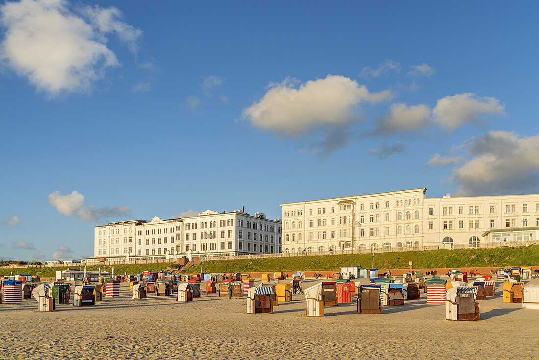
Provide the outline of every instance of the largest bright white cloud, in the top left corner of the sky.
{"type": "Polygon", "coordinates": [[[120,65],[107,36],[116,33],[136,51],[141,31],[118,20],[116,8],[82,7],[65,0],[21,0],[0,7],[5,38],[0,57],[39,90],[88,92],[107,67],[120,65]]]}

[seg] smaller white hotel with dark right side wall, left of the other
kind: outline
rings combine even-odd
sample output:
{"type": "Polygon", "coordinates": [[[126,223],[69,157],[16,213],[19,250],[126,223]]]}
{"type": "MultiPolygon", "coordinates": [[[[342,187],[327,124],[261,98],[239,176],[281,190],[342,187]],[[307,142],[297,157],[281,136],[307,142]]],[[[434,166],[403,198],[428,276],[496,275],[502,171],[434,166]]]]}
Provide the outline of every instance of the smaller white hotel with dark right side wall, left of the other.
{"type": "MultiPolygon", "coordinates": [[[[109,222],[94,227],[94,259],[152,260],[183,255],[229,256],[280,253],[281,220],[236,210],[206,210],[198,216],[109,222]]],[[[91,260],[91,259],[87,259],[91,260]]]]}

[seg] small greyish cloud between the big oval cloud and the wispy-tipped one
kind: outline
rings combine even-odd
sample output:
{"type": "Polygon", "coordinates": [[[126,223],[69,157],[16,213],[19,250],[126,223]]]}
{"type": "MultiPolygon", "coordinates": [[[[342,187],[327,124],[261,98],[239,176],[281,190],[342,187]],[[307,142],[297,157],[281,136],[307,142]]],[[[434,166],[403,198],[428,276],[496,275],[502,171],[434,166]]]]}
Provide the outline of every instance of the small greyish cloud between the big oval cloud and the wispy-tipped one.
{"type": "Polygon", "coordinates": [[[375,133],[388,135],[421,130],[431,125],[430,116],[431,110],[426,105],[396,103],[391,105],[388,115],[378,119],[375,133]]]}

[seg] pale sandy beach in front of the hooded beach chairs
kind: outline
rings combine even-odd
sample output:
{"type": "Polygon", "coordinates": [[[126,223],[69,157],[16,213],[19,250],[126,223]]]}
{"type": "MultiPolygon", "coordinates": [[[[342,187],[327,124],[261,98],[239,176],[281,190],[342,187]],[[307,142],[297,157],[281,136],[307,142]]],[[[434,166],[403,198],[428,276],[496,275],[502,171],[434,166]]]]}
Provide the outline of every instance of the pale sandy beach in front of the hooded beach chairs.
{"type": "MultiPolygon", "coordinates": [[[[320,281],[320,280],[318,280],[320,281]]],[[[362,280],[365,282],[365,280],[362,280]]],[[[308,280],[304,288],[314,284],[308,280]]],[[[539,283],[539,279],[529,283],[539,283]]],[[[536,359],[538,310],[480,302],[481,321],[447,321],[444,305],[421,300],[383,307],[382,315],[356,314],[349,304],[306,317],[303,295],[273,314],[246,314],[246,298],[202,294],[133,300],[127,283],[120,297],[91,307],[57,305],[36,313],[32,299],[0,305],[0,354],[10,359],[536,359]]],[[[423,290],[421,290],[423,291],[423,290]]]]}

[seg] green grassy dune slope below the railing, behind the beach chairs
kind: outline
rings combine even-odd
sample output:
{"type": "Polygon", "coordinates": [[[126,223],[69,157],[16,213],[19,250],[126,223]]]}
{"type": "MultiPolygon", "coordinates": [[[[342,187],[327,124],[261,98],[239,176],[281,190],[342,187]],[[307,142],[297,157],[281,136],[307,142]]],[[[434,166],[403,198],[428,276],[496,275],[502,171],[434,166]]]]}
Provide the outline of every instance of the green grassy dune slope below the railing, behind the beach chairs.
{"type": "MultiPolygon", "coordinates": [[[[414,268],[465,268],[465,267],[508,267],[508,266],[537,266],[539,265],[539,245],[522,247],[504,247],[493,249],[462,249],[462,250],[426,250],[398,253],[375,254],[374,265],[380,269],[406,269],[408,262],[413,261],[414,268]]],[[[159,269],[169,269],[172,263],[159,263],[159,269]]],[[[210,273],[226,272],[257,272],[257,271],[314,271],[337,270],[345,265],[361,264],[370,267],[370,254],[326,255],[326,256],[295,256],[251,260],[216,260],[204,261],[203,271],[210,273]]],[[[84,269],[84,266],[80,267],[84,269]]],[[[97,271],[99,266],[88,266],[87,270],[97,271]]],[[[26,273],[41,277],[53,277],[54,271],[67,269],[56,268],[24,268],[0,269],[0,275],[26,273]]],[[[186,273],[196,273],[201,266],[190,268],[186,273]]],[[[112,266],[101,266],[101,271],[110,271],[112,266]]],[[[157,271],[157,264],[115,265],[115,274],[136,274],[139,271],[157,271]]]]}

